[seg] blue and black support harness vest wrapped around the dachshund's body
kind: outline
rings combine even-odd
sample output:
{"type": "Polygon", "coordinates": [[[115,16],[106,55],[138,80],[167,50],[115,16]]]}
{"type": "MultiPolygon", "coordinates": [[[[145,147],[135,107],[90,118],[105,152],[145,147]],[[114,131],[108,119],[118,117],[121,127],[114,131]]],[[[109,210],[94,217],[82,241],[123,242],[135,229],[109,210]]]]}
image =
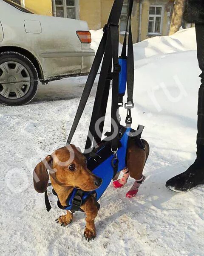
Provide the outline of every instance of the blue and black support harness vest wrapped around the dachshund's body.
{"type": "MultiPolygon", "coordinates": [[[[141,126],[140,126],[141,128],[141,126]]],[[[71,195],[66,200],[66,206],[62,207],[58,200],[58,207],[65,210],[70,210],[72,212],[82,211],[80,208],[85,202],[90,198],[90,196],[94,196],[96,205],[98,209],[100,205],[98,204],[98,200],[101,198],[105,190],[108,188],[109,184],[113,177],[115,177],[117,172],[120,172],[122,169],[125,169],[126,165],[126,156],[127,156],[127,148],[128,141],[131,139],[135,140],[135,143],[142,149],[144,149],[144,144],[141,140],[142,132],[136,136],[131,137],[130,132],[135,132],[132,128],[127,128],[121,126],[119,130],[119,148],[116,153],[111,151],[111,143],[109,141],[102,140],[101,143],[97,145],[97,148],[94,148],[92,152],[92,157],[88,157],[87,159],[87,167],[93,172],[97,177],[102,178],[102,185],[91,192],[84,192],[80,189],[74,189],[71,195]],[[116,155],[117,154],[117,155],[116,155]],[[116,163],[115,163],[116,161],[116,163]],[[114,169],[114,165],[116,165],[116,169],[114,169]],[[115,172],[116,170],[116,172],[115,172]]],[[[86,155],[85,155],[86,156],[86,155]]],[[[57,195],[53,191],[54,195],[57,195]]]]}

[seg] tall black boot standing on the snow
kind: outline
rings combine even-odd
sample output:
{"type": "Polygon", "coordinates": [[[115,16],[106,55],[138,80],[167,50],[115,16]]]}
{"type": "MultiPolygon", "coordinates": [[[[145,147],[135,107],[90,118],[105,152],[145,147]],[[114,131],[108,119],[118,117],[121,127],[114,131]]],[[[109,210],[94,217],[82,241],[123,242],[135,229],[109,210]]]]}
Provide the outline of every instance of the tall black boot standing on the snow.
{"type": "Polygon", "coordinates": [[[186,172],[183,172],[167,181],[167,189],[181,192],[204,184],[204,86],[198,93],[198,135],[197,158],[186,172]]]}

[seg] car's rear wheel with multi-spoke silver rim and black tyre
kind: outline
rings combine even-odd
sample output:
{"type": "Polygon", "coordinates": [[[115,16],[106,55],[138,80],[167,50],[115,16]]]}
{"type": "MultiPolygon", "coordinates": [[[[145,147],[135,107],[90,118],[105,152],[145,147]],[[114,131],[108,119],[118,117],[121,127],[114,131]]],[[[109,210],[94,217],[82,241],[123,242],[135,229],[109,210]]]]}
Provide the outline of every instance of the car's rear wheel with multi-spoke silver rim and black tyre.
{"type": "Polygon", "coordinates": [[[37,93],[38,74],[32,62],[18,52],[0,53],[0,103],[23,105],[37,93]]]}

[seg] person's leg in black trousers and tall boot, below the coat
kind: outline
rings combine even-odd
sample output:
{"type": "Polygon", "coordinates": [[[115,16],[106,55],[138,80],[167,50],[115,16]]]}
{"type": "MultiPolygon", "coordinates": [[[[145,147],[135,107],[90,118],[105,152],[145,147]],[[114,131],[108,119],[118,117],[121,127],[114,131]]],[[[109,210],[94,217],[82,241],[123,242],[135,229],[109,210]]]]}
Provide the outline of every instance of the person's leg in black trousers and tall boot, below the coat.
{"type": "Polygon", "coordinates": [[[204,184],[204,24],[196,24],[198,64],[202,71],[201,87],[198,92],[198,135],[197,158],[186,172],[167,181],[166,187],[173,191],[187,191],[204,184]]]}

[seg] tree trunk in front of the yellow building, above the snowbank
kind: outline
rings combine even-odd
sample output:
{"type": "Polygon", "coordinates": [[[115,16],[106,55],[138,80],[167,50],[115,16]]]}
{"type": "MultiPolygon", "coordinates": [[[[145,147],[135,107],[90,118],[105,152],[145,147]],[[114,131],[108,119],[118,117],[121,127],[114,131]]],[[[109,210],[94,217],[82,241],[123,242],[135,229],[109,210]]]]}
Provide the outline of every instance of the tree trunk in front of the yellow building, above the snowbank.
{"type": "Polygon", "coordinates": [[[169,35],[173,35],[181,27],[183,12],[184,12],[184,2],[185,0],[176,0],[174,9],[173,9],[173,15],[171,18],[169,35]]]}

